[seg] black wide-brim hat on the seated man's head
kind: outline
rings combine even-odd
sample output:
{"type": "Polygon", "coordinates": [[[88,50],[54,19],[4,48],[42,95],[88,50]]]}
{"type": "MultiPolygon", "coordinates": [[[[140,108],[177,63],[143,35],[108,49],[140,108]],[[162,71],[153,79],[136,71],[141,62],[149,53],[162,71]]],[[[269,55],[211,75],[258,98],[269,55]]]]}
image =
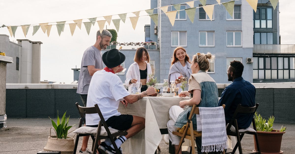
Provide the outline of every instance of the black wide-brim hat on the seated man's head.
{"type": "Polygon", "coordinates": [[[120,53],[118,49],[111,49],[102,55],[102,61],[108,68],[121,65],[125,61],[125,55],[120,53]]]}

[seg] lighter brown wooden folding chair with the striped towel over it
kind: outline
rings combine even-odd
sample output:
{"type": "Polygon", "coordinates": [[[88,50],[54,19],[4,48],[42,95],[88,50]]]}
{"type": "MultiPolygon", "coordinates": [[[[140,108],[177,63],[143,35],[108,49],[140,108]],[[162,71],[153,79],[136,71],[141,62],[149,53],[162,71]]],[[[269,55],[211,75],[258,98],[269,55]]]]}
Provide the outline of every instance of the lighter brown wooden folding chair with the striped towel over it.
{"type": "MultiPolygon", "coordinates": [[[[223,104],[222,107],[224,108],[225,105],[223,104]]],[[[186,127],[185,127],[183,133],[181,134],[180,132],[177,132],[177,131],[173,131],[172,132],[172,134],[181,137],[180,142],[178,144],[179,147],[175,151],[176,154],[179,153],[184,138],[186,138],[188,140],[191,140],[191,144],[192,144],[191,151],[192,151],[193,154],[195,154],[195,150],[192,150],[192,148],[194,147],[194,141],[196,140],[196,137],[202,137],[202,133],[200,132],[199,135],[194,135],[194,127],[193,127],[193,123],[191,121],[191,119],[192,119],[192,117],[193,117],[194,114],[200,114],[199,107],[196,107],[196,104],[194,104],[193,107],[192,107],[192,109],[191,109],[191,113],[189,114],[189,119],[187,119],[186,127]],[[190,134],[191,135],[188,135],[187,134],[187,131],[189,130],[189,128],[190,128],[190,134]]],[[[223,150],[223,154],[224,154],[224,150],[223,150]]]]}

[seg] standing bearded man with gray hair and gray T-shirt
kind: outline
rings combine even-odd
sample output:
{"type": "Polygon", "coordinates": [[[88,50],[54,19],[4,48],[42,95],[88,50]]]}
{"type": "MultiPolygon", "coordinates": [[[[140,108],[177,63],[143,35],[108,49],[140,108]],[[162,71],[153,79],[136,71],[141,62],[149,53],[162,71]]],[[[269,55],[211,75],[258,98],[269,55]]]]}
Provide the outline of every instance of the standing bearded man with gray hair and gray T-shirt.
{"type": "MultiPolygon", "coordinates": [[[[80,94],[84,107],[86,107],[87,103],[87,93],[91,77],[96,71],[102,70],[103,68],[101,50],[106,49],[111,39],[112,34],[108,30],[103,30],[102,32],[98,30],[96,33],[96,42],[84,51],[77,88],[77,93],[80,94]]],[[[120,67],[117,72],[121,72],[122,70],[123,68],[120,67]]],[[[89,136],[83,137],[79,153],[92,153],[92,151],[87,148],[88,140],[89,136]]]]}

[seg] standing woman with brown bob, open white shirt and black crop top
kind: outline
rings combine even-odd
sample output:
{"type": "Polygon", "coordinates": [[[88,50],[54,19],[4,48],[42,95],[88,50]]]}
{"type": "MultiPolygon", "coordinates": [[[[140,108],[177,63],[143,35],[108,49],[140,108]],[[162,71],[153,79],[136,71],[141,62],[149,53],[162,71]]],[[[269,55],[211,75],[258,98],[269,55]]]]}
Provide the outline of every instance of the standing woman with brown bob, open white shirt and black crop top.
{"type": "Polygon", "coordinates": [[[148,89],[146,82],[148,76],[152,73],[148,51],[144,47],[138,48],[134,56],[134,61],[135,62],[128,68],[125,84],[128,86],[128,91],[130,93],[132,87],[135,87],[136,82],[141,82],[142,87],[140,90],[146,91],[146,89],[148,89]]]}

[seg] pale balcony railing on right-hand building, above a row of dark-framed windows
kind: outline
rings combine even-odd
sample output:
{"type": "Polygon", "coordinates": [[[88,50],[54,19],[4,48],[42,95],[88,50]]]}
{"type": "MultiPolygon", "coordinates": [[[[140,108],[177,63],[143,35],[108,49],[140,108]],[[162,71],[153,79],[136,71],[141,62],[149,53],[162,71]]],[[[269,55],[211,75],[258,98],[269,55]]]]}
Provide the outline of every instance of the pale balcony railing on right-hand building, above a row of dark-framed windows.
{"type": "Polygon", "coordinates": [[[253,53],[294,54],[295,45],[255,44],[253,45],[253,53]]]}

